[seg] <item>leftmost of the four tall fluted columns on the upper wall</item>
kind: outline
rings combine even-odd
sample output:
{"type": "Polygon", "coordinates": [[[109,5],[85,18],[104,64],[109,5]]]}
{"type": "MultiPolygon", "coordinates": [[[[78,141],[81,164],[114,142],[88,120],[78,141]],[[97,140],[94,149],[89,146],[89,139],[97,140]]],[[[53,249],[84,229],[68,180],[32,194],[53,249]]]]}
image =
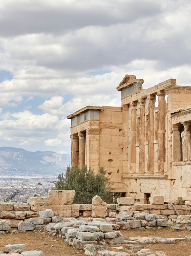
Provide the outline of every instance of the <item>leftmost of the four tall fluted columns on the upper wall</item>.
{"type": "Polygon", "coordinates": [[[130,172],[136,172],[136,105],[137,102],[130,103],[131,107],[131,160],[130,172]]]}

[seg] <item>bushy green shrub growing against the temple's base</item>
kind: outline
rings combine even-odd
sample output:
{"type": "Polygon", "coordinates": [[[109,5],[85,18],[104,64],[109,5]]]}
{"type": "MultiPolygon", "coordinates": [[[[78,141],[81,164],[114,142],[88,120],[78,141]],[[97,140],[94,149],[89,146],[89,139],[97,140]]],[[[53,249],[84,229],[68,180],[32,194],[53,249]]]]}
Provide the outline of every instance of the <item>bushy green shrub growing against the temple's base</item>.
{"type": "Polygon", "coordinates": [[[73,204],[91,204],[92,197],[98,195],[106,203],[112,203],[112,183],[105,175],[106,170],[101,167],[98,173],[84,166],[82,169],[68,167],[65,173],[60,173],[54,182],[55,190],[75,190],[73,204]]]}

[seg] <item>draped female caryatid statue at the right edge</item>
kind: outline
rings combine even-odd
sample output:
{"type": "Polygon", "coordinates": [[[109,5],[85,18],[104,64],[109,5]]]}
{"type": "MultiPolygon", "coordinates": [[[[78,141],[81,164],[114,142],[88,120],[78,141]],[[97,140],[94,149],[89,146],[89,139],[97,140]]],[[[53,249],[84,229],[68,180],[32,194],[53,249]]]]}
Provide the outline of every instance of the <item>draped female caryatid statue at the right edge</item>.
{"type": "Polygon", "coordinates": [[[183,123],[185,130],[181,133],[182,138],[182,158],[183,161],[191,161],[191,139],[190,139],[190,132],[189,124],[183,123]]]}

